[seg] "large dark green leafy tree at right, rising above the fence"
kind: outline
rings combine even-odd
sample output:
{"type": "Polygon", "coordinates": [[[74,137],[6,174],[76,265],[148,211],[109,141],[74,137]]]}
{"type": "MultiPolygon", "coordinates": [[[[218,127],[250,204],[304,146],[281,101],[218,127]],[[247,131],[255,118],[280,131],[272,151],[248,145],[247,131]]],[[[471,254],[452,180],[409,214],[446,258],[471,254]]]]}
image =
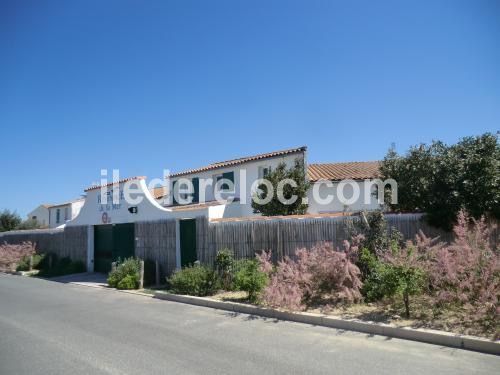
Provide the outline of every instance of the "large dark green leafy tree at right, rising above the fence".
{"type": "Polygon", "coordinates": [[[405,155],[391,149],[381,175],[398,183],[398,204],[391,209],[425,212],[431,225],[450,230],[460,209],[475,218],[500,218],[497,135],[467,137],[452,146],[435,141],[411,147],[405,155]]]}

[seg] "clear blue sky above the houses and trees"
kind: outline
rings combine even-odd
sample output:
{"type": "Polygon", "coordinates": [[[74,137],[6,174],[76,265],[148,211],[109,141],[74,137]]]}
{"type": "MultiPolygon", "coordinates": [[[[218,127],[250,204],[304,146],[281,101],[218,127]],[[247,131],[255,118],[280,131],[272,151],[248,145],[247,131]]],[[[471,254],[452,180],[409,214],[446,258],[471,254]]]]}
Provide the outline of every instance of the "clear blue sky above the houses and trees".
{"type": "Polygon", "coordinates": [[[0,1],[0,209],[307,145],[500,126],[500,2],[0,1]]]}

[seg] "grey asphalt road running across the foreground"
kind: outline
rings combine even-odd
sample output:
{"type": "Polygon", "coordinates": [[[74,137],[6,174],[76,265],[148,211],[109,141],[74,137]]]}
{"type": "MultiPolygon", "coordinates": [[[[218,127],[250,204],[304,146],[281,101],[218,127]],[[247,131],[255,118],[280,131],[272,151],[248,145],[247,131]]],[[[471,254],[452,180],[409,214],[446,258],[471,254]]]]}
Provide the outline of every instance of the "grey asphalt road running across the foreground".
{"type": "Polygon", "coordinates": [[[0,274],[0,374],[498,374],[500,357],[0,274]]]}

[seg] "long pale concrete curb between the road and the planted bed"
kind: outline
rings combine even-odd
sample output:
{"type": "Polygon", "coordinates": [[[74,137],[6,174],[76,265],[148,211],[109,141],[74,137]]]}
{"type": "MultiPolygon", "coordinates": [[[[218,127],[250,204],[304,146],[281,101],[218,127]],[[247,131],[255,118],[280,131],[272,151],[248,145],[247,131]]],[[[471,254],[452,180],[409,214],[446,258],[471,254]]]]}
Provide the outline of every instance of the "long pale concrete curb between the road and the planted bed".
{"type": "Polygon", "coordinates": [[[481,353],[500,355],[499,340],[490,341],[479,337],[465,336],[430,329],[395,327],[389,324],[365,322],[357,319],[339,319],[320,314],[280,311],[265,307],[246,305],[242,303],[216,301],[210,298],[184,296],[166,292],[155,292],[154,298],[171,302],[180,302],[190,305],[210,307],[213,309],[232,311],[242,314],[257,315],[265,318],[312,324],[322,327],[356,331],[371,335],[387,336],[398,339],[419,341],[428,344],[471,350],[481,353]]]}

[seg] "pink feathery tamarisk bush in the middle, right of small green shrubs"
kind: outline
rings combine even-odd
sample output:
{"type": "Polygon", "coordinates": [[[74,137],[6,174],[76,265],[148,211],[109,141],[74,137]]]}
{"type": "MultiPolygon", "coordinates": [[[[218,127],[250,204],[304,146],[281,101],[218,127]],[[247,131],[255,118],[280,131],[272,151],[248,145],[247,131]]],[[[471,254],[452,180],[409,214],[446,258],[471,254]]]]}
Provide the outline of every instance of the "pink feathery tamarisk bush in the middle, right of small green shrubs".
{"type": "Polygon", "coordinates": [[[272,307],[304,310],[320,301],[352,303],[361,300],[359,268],[350,260],[350,249],[337,251],[331,243],[298,249],[295,259],[285,257],[272,266],[270,253],[257,256],[269,275],[262,300],[272,307]]]}

